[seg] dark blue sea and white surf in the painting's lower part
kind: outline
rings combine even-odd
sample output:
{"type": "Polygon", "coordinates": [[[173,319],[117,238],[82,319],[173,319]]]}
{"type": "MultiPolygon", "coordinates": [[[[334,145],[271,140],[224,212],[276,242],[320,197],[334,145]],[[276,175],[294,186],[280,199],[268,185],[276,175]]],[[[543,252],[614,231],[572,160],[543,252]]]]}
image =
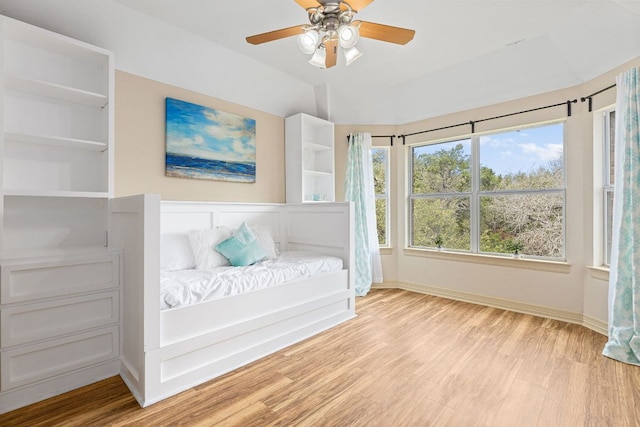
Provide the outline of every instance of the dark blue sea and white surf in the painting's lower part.
{"type": "Polygon", "coordinates": [[[256,164],[201,159],[167,153],[166,176],[212,179],[233,182],[255,182],[256,164]]]}

